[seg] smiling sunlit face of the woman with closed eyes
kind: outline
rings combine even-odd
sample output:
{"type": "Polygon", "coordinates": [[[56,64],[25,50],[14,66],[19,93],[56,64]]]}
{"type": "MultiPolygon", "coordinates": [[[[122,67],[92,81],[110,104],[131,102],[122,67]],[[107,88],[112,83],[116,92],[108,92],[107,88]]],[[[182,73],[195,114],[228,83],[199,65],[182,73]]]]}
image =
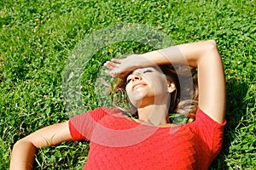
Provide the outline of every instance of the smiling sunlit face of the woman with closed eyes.
{"type": "Polygon", "coordinates": [[[126,93],[131,104],[137,108],[167,102],[169,93],[166,76],[154,67],[132,71],[126,83],[126,93]]]}

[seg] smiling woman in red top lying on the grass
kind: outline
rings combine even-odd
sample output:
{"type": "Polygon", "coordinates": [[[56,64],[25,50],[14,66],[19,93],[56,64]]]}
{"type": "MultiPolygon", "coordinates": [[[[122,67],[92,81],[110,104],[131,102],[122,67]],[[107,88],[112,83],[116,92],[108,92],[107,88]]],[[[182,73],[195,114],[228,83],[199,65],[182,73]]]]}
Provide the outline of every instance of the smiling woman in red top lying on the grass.
{"type": "Polygon", "coordinates": [[[81,139],[90,140],[84,169],[208,169],[221,149],[225,124],[224,70],[216,43],[185,43],[105,66],[119,77],[115,92],[126,92],[137,118],[125,116],[128,109],[100,107],[44,127],[17,141],[10,169],[30,169],[36,150],[81,139]],[[198,97],[183,99],[180,75],[167,65],[187,63],[198,70],[198,97]],[[191,105],[183,109],[188,100],[191,105]],[[170,122],[168,115],[179,110],[195,121],[170,122]]]}

